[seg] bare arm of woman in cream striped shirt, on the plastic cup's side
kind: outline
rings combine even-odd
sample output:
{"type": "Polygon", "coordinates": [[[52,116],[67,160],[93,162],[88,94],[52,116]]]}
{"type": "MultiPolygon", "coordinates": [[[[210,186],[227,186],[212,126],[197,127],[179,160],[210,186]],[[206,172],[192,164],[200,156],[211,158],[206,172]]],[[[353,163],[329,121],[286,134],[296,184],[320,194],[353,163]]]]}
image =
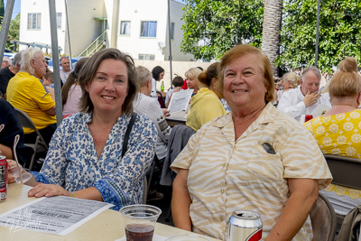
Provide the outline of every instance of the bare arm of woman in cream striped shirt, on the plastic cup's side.
{"type": "Polygon", "coordinates": [[[171,214],[175,227],[191,231],[190,220],[190,192],[188,191],[187,178],[190,170],[180,169],[173,182],[171,197],[171,214]]]}

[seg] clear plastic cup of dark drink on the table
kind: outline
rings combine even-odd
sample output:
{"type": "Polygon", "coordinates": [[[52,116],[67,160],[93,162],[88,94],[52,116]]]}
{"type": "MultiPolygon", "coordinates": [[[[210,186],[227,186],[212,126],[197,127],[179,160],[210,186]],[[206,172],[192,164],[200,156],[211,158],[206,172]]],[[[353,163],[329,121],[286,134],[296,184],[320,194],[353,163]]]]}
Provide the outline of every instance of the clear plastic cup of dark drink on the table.
{"type": "Polygon", "coordinates": [[[152,241],[161,209],[152,205],[134,204],[120,209],[120,213],[125,222],[126,241],[152,241]]]}

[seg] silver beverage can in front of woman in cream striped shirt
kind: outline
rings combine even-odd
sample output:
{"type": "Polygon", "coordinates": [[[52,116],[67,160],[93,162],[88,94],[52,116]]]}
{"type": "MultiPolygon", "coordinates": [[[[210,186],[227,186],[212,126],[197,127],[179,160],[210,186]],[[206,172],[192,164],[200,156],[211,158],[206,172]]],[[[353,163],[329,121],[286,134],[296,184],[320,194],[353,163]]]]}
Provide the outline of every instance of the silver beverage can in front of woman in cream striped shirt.
{"type": "Polygon", "coordinates": [[[262,239],[262,220],[257,212],[237,210],[228,220],[227,241],[258,241],[262,239]]]}

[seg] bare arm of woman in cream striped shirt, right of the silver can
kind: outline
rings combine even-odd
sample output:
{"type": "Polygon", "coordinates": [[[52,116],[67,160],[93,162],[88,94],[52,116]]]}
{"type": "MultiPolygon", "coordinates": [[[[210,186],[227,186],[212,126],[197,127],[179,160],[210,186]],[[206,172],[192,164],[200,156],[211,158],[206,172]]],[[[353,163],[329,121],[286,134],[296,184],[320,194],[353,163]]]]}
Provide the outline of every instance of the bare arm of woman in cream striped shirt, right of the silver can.
{"type": "Polygon", "coordinates": [[[319,196],[319,181],[314,179],[288,179],[290,198],[287,200],[281,217],[274,225],[265,241],[292,240],[309,217],[319,196]]]}

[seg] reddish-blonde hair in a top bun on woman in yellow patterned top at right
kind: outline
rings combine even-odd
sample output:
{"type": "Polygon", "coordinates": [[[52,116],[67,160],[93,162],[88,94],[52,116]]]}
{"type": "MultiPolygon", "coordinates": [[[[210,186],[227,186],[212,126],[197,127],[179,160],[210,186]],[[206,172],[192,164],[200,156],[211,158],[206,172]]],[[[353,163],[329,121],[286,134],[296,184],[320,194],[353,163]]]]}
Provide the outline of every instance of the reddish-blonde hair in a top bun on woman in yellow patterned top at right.
{"type": "Polygon", "coordinates": [[[347,57],[338,63],[338,71],[329,80],[330,97],[356,97],[361,92],[361,76],[357,73],[357,62],[347,57]]]}

